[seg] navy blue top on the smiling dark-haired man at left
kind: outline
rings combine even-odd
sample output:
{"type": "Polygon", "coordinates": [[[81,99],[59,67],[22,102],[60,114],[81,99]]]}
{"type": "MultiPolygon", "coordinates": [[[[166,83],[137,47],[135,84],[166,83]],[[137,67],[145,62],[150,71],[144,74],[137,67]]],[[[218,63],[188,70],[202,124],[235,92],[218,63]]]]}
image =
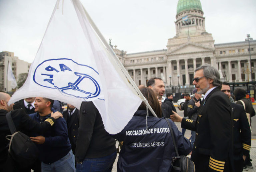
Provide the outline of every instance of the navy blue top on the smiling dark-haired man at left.
{"type": "MultiPolygon", "coordinates": [[[[32,113],[29,114],[29,116],[39,123],[42,122],[40,120],[39,113],[32,113]]],[[[43,121],[50,116],[51,114],[45,116],[43,121]]],[[[35,137],[39,136],[39,134],[33,133],[31,136],[35,137]]],[[[43,144],[36,144],[40,151],[39,159],[42,162],[46,164],[53,163],[67,155],[70,151],[71,144],[68,138],[68,129],[65,119],[56,119],[53,127],[48,132],[43,134],[43,136],[45,137],[45,142],[43,144]]]]}

